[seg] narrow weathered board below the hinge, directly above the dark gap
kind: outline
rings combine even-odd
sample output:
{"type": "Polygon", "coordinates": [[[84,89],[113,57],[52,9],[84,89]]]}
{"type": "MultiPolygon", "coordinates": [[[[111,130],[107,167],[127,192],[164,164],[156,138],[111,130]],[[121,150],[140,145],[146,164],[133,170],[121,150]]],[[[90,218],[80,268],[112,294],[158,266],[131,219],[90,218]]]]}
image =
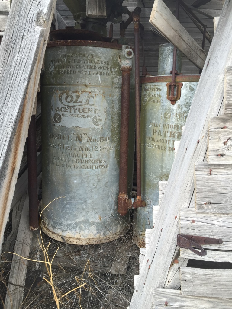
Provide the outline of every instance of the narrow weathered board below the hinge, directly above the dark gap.
{"type": "Polygon", "coordinates": [[[191,252],[189,249],[180,248],[180,256],[185,257],[186,259],[193,259],[193,260],[232,263],[232,251],[207,250],[207,255],[199,256],[191,252]]]}

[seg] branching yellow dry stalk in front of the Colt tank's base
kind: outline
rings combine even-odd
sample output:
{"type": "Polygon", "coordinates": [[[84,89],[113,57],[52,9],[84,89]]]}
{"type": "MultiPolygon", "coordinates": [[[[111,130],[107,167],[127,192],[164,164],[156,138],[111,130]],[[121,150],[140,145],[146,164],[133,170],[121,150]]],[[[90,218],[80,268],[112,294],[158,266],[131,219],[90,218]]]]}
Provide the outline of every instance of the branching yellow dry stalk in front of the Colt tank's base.
{"type": "MultiPolygon", "coordinates": [[[[77,287],[75,287],[74,289],[72,289],[72,290],[68,291],[67,293],[63,294],[63,295],[62,295],[61,297],[59,297],[59,298],[58,298],[57,293],[56,293],[56,290],[55,290],[56,287],[54,286],[53,277],[52,277],[52,262],[53,262],[53,260],[54,260],[54,257],[55,257],[55,255],[56,255],[56,253],[57,253],[59,247],[57,248],[57,250],[56,250],[56,252],[55,252],[55,254],[54,254],[52,260],[50,261],[49,255],[48,255],[48,249],[49,249],[49,246],[50,246],[50,243],[51,243],[51,242],[49,241],[49,244],[48,244],[47,247],[45,248],[45,245],[44,245],[44,242],[43,242],[43,238],[42,238],[42,232],[41,232],[41,215],[42,215],[43,211],[45,210],[45,208],[49,207],[49,205],[50,205],[52,202],[54,202],[55,200],[58,200],[59,198],[64,198],[64,197],[57,197],[57,198],[55,198],[53,201],[51,201],[48,205],[44,205],[45,207],[44,207],[44,209],[41,211],[41,214],[40,214],[40,221],[39,221],[39,222],[40,222],[41,243],[40,243],[40,241],[39,241],[39,245],[40,245],[41,250],[42,250],[43,253],[44,253],[44,261],[28,259],[28,258],[26,258],[26,257],[24,257],[24,256],[20,256],[20,255],[17,254],[17,253],[13,253],[13,254],[16,255],[16,256],[21,257],[22,260],[24,259],[24,260],[33,261],[33,262],[45,263],[45,267],[46,267],[46,270],[47,270],[47,273],[48,273],[48,276],[49,276],[50,281],[48,281],[45,277],[43,277],[43,279],[44,279],[47,283],[49,283],[49,285],[52,287],[52,292],[53,292],[53,296],[54,296],[55,303],[56,303],[56,305],[57,305],[57,309],[60,309],[60,300],[61,300],[62,297],[66,296],[67,294],[69,294],[69,293],[71,293],[71,292],[73,292],[73,291],[75,291],[75,290],[77,290],[77,289],[80,289],[82,286],[85,286],[85,285],[86,285],[86,282],[85,282],[85,283],[81,284],[80,286],[77,286],[77,287]]],[[[6,252],[6,253],[12,253],[12,252],[6,252]]],[[[83,275],[82,275],[82,277],[83,277],[83,275]]]]}

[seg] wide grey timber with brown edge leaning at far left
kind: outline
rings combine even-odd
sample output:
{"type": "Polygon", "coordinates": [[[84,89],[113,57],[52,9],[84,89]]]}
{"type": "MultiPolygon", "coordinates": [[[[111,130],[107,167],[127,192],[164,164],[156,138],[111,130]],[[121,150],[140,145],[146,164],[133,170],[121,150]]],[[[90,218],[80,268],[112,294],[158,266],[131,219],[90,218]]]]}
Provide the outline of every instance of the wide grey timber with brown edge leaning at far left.
{"type": "Polygon", "coordinates": [[[54,8],[55,0],[13,1],[0,46],[0,248],[54,8]]]}

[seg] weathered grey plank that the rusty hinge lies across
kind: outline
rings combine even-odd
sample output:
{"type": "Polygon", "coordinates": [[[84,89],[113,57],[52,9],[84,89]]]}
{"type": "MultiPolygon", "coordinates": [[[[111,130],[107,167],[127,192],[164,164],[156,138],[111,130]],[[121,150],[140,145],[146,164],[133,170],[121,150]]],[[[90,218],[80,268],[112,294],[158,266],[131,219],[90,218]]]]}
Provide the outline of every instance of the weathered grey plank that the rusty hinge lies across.
{"type": "Polygon", "coordinates": [[[180,210],[180,234],[220,238],[222,244],[202,247],[232,251],[232,214],[201,214],[194,208],[183,208],[180,210]]]}

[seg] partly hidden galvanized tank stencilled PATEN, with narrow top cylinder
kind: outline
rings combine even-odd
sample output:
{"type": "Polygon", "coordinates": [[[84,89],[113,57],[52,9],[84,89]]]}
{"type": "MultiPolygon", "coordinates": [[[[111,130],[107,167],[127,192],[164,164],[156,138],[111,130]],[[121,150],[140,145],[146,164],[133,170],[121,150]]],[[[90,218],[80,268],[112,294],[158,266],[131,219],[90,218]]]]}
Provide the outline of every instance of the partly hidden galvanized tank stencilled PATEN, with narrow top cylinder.
{"type": "Polygon", "coordinates": [[[158,75],[141,79],[141,186],[146,207],[134,212],[136,243],[145,245],[145,231],[153,228],[153,205],[159,205],[159,181],[168,180],[174,161],[174,141],[182,135],[200,75],[182,75],[177,51],[174,96],[170,99],[173,45],[159,48],[158,75]],[[177,73],[176,72],[176,73],[177,73]]]}

